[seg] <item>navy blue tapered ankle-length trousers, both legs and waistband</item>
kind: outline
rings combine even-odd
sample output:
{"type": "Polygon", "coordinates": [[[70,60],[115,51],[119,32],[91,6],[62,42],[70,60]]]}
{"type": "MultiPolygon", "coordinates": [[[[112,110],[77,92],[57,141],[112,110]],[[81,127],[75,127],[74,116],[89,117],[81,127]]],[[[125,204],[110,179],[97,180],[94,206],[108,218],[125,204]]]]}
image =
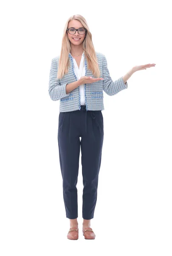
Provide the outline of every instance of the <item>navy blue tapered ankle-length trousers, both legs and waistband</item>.
{"type": "Polygon", "coordinates": [[[81,110],[59,113],[59,161],[67,218],[78,218],[76,184],[80,146],[83,177],[82,217],[90,220],[94,216],[103,138],[104,125],[101,110],[86,111],[85,105],[82,105],[81,110]]]}

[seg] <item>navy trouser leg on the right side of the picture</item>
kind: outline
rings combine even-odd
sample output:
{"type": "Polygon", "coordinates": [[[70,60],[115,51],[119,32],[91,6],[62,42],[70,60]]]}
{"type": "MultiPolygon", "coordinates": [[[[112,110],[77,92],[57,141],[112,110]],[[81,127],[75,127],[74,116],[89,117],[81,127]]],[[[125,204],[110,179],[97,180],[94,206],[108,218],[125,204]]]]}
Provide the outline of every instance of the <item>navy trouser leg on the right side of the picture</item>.
{"type": "MultiPolygon", "coordinates": [[[[86,114],[86,113],[85,113],[86,114]]],[[[83,115],[85,119],[85,115],[83,115]]],[[[103,115],[101,111],[87,111],[87,132],[82,127],[81,154],[83,176],[82,217],[91,219],[97,201],[99,170],[104,138],[103,115]],[[95,114],[96,118],[92,116],[95,114]]],[[[82,124],[85,124],[83,119],[82,124]]]]}

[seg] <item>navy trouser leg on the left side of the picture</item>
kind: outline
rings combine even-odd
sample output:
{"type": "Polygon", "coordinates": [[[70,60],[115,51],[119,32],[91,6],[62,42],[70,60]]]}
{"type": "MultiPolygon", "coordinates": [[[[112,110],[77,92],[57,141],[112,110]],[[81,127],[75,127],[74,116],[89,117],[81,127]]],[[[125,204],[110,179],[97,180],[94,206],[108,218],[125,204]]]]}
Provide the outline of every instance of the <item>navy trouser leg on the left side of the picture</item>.
{"type": "Polygon", "coordinates": [[[63,180],[63,198],[66,217],[78,218],[77,180],[79,171],[79,115],[72,112],[59,113],[58,145],[63,180]]]}

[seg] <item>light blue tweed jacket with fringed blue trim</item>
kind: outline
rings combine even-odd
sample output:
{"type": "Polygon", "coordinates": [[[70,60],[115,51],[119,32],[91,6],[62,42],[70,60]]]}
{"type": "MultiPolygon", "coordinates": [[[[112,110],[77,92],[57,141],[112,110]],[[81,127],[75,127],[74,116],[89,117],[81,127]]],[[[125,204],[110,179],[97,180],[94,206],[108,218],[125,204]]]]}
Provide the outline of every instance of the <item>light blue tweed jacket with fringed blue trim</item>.
{"type": "MultiPolygon", "coordinates": [[[[99,63],[99,70],[101,77],[104,80],[100,80],[91,84],[85,84],[85,104],[86,110],[104,110],[103,102],[103,90],[109,96],[113,96],[116,93],[124,90],[128,87],[127,82],[124,84],[124,80],[119,78],[113,81],[110,77],[109,70],[107,68],[107,60],[104,54],[96,52],[97,60],[99,63]]],[[[66,93],[66,84],[72,83],[77,80],[73,68],[73,59],[69,54],[70,67],[69,71],[62,79],[57,79],[57,71],[59,64],[59,56],[55,57],[51,61],[50,76],[49,76],[49,95],[52,100],[60,100],[59,112],[69,112],[81,109],[80,92],[79,87],[72,90],[70,93],[66,93]]],[[[93,76],[93,73],[87,69],[87,59],[85,58],[85,76],[93,76]]]]}

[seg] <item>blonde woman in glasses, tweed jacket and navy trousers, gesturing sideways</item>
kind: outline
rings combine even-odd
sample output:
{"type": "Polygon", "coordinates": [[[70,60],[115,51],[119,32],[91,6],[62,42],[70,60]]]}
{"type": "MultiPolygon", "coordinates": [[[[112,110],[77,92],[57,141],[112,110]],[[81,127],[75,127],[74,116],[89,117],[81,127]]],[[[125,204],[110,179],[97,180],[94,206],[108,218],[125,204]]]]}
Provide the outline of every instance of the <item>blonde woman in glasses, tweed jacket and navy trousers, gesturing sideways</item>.
{"type": "Polygon", "coordinates": [[[104,138],[103,90],[113,96],[128,87],[127,80],[135,71],[152,66],[155,64],[133,67],[125,76],[113,81],[105,56],[93,47],[85,18],[73,15],[68,19],[61,53],[52,59],[49,78],[49,95],[54,101],[60,100],[58,145],[65,211],[70,219],[68,239],[78,239],[76,184],[80,146],[84,185],[82,233],[85,239],[96,236],[90,220],[96,206],[104,138]]]}

